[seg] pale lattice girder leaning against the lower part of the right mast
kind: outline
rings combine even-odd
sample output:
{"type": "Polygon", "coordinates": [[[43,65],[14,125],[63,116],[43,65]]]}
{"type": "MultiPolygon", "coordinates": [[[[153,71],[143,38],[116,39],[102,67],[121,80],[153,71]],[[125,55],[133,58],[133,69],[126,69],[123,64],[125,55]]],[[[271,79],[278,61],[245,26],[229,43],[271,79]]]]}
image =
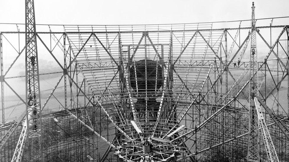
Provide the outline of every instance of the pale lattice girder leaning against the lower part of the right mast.
{"type": "Polygon", "coordinates": [[[261,129],[262,135],[263,135],[263,140],[268,156],[268,161],[270,162],[279,162],[279,158],[277,156],[270,132],[267,128],[266,125],[266,120],[262,114],[262,107],[261,104],[259,103],[257,97],[254,98],[255,106],[256,106],[256,113],[258,117],[258,126],[261,129]]]}

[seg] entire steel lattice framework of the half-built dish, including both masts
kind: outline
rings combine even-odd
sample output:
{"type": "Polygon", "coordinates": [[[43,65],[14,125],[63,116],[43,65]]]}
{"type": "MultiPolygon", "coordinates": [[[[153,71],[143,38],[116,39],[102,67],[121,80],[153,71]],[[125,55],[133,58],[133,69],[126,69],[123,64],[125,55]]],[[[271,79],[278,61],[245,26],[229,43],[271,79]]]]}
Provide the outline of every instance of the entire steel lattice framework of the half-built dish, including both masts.
{"type": "Polygon", "coordinates": [[[289,91],[288,17],[268,26],[271,19],[255,19],[253,6],[252,20],[243,21],[57,26],[36,25],[33,15],[26,32],[0,33],[1,161],[289,160],[289,102],[281,99],[289,91]],[[23,48],[13,34],[25,35],[23,48]],[[17,53],[8,66],[2,46],[17,53]],[[15,76],[25,49],[27,73],[15,76]],[[58,70],[44,71],[44,55],[58,70]],[[25,76],[26,100],[9,82],[25,76]],[[40,91],[45,82],[52,88],[40,91]],[[3,87],[22,105],[4,104],[3,87]],[[25,105],[7,122],[7,111],[25,105]]]}

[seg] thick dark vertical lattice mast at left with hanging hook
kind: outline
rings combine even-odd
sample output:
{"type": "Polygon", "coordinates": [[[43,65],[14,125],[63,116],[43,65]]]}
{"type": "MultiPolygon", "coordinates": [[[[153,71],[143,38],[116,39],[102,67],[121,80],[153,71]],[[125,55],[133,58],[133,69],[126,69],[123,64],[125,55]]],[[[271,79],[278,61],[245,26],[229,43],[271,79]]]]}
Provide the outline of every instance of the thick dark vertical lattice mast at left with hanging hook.
{"type": "Polygon", "coordinates": [[[34,0],[25,1],[25,36],[26,36],[26,121],[27,140],[30,161],[41,160],[41,102],[39,89],[39,70],[36,43],[36,25],[34,0]]]}

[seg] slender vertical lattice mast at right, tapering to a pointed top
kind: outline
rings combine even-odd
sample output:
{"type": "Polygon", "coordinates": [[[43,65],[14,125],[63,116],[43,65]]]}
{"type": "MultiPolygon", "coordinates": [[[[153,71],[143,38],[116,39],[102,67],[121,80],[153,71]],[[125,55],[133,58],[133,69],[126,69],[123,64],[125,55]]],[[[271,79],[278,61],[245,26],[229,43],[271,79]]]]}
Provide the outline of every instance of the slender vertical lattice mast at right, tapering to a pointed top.
{"type": "Polygon", "coordinates": [[[254,97],[258,96],[258,65],[256,48],[255,6],[252,4],[251,18],[251,50],[250,50],[250,94],[249,94],[249,135],[248,135],[248,161],[260,161],[258,119],[254,97]]]}

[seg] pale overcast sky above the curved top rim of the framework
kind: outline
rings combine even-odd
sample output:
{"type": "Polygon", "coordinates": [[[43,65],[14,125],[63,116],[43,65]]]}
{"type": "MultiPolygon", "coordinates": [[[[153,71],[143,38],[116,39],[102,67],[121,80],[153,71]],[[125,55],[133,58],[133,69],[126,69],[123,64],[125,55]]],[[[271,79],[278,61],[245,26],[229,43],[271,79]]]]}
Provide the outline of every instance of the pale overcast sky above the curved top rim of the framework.
{"type": "MultiPolygon", "coordinates": [[[[37,24],[163,24],[251,18],[251,0],[35,0],[37,24]]],[[[256,18],[289,16],[289,0],[255,0],[256,18]]],[[[24,0],[0,0],[1,23],[25,23],[24,0]]]]}

